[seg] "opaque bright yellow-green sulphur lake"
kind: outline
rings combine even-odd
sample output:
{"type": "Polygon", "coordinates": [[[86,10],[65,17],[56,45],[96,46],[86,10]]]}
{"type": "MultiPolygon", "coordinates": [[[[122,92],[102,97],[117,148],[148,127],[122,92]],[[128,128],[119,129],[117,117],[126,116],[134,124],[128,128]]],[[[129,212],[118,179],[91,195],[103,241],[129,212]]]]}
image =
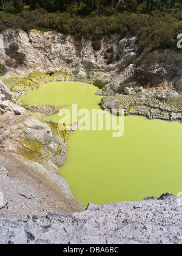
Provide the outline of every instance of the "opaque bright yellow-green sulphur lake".
{"type": "MultiPolygon", "coordinates": [[[[47,83],[22,99],[24,105],[57,105],[98,109],[98,88],[79,82],[47,83]]],[[[108,112],[110,115],[110,113],[108,112]]],[[[110,115],[111,116],[111,115],[110,115]]],[[[51,117],[59,122],[60,117],[51,117]]],[[[124,117],[124,134],[73,131],[67,140],[67,161],[59,174],[73,196],[87,206],[137,201],[182,191],[182,125],[180,122],[124,117]]]]}

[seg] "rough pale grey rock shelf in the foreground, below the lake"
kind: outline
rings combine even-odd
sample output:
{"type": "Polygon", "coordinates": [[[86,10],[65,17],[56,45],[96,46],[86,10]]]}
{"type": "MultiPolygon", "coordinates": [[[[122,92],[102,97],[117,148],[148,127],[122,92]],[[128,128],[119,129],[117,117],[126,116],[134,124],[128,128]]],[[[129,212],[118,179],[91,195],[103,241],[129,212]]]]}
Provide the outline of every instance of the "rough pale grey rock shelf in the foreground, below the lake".
{"type": "Polygon", "coordinates": [[[81,213],[0,217],[0,243],[182,243],[180,199],[166,193],[81,213]]]}

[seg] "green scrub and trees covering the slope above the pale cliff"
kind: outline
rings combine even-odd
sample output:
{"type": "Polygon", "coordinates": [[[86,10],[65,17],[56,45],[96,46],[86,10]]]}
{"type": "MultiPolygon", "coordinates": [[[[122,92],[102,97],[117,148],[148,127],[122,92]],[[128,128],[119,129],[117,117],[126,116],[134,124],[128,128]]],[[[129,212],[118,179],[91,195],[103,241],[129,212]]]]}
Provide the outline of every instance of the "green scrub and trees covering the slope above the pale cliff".
{"type": "MultiPolygon", "coordinates": [[[[177,58],[182,0],[1,0],[0,30],[9,27],[25,31],[58,30],[78,41],[92,40],[95,50],[99,49],[103,36],[113,33],[119,33],[121,38],[136,36],[139,56],[134,63],[136,70],[143,67],[146,71],[149,64],[160,61],[166,67],[170,63],[175,66],[182,58],[181,53],[180,60],[177,58]],[[159,55],[158,49],[172,51],[159,55]]],[[[18,49],[15,55],[13,50],[7,49],[7,55],[21,64],[24,56],[18,54],[18,49]]],[[[106,52],[106,59],[107,64],[112,63],[112,49],[106,52]]]]}

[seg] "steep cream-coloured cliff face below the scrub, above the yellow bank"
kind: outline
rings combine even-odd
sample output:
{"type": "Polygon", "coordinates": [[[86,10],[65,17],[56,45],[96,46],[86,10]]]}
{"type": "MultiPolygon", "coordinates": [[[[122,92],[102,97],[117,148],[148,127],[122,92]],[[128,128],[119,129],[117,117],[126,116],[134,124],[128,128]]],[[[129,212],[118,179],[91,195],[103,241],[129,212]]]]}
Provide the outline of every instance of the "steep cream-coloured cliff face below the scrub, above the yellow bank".
{"type": "Polygon", "coordinates": [[[38,69],[45,74],[70,69],[73,71],[71,75],[89,79],[93,72],[115,72],[136,58],[135,38],[120,40],[119,35],[112,36],[110,40],[103,39],[101,50],[97,52],[93,50],[90,41],[82,40],[76,43],[72,36],[58,32],[31,30],[25,33],[22,30],[8,29],[4,31],[0,42],[3,60],[8,60],[4,49],[11,43],[19,45],[19,52],[25,54],[25,66],[15,68],[12,63],[10,71],[22,75],[25,67],[25,72],[38,69]],[[116,59],[118,61],[115,61],[116,59]]]}

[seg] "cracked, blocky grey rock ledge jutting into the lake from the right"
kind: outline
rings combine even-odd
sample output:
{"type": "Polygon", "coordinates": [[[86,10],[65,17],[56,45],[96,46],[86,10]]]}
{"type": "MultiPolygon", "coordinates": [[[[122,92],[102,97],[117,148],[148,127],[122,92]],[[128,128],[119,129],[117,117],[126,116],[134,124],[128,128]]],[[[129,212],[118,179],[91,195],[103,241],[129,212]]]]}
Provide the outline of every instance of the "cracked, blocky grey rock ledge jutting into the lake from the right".
{"type": "MultiPolygon", "coordinates": [[[[130,90],[130,88],[127,89],[130,90]]],[[[178,120],[182,122],[182,97],[180,96],[172,97],[170,100],[161,101],[156,97],[151,97],[145,93],[131,93],[127,95],[117,94],[103,97],[100,105],[102,109],[110,109],[110,111],[113,108],[124,109],[124,114],[126,116],[133,114],[146,116],[149,119],[178,120]]]]}

